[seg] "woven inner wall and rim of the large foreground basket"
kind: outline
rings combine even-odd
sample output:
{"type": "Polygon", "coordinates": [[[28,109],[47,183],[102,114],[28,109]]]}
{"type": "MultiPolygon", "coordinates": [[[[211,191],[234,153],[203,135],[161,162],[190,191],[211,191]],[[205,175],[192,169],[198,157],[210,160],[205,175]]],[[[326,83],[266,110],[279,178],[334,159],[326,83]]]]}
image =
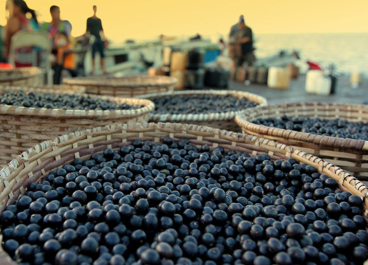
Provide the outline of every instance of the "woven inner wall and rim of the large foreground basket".
{"type": "MultiPolygon", "coordinates": [[[[105,148],[117,150],[133,140],[159,142],[166,136],[174,140],[188,139],[191,144],[208,144],[210,150],[222,146],[226,150],[243,151],[255,156],[267,153],[273,160],[294,158],[314,166],[319,173],[328,175],[339,183],[339,188],[350,191],[364,200],[367,216],[368,187],[342,169],[295,148],[255,136],[229,132],[206,126],[181,123],[146,123],[112,125],[86,129],[37,144],[11,161],[0,171],[0,211],[14,203],[26,191],[30,182],[37,182],[48,172],[61,168],[74,158],[87,160],[92,153],[105,148]]],[[[1,238],[0,238],[1,240],[1,238]]],[[[1,264],[15,264],[0,248],[1,264]]]]}

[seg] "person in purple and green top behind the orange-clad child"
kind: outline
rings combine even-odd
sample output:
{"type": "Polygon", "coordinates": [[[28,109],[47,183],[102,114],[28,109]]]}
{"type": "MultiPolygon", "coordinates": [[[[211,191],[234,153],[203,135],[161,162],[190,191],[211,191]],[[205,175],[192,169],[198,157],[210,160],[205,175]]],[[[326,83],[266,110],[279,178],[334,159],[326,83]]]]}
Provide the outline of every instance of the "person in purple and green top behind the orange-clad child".
{"type": "Polygon", "coordinates": [[[68,38],[70,38],[71,24],[67,20],[61,20],[60,7],[58,6],[50,7],[50,15],[51,15],[51,22],[44,22],[42,24],[42,30],[49,32],[53,43],[53,54],[56,55],[57,53],[57,47],[55,45],[56,35],[60,32],[64,32],[66,33],[68,38]]]}

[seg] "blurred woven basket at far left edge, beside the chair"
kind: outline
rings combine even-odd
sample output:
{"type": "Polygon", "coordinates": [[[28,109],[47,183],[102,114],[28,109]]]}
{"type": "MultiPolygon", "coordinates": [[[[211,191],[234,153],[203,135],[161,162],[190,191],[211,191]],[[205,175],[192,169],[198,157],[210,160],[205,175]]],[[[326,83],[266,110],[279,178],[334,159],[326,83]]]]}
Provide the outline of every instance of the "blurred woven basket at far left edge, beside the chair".
{"type": "Polygon", "coordinates": [[[0,85],[6,86],[42,86],[45,71],[37,67],[0,70],[0,85]]]}

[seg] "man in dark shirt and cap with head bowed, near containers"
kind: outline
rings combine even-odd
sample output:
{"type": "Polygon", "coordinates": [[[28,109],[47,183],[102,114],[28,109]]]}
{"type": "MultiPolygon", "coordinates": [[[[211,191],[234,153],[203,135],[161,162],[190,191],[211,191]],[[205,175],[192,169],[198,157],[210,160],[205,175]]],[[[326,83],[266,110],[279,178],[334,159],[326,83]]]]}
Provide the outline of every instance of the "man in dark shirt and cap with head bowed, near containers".
{"type": "Polygon", "coordinates": [[[253,64],[253,35],[252,29],[245,25],[244,19],[242,19],[238,27],[240,31],[236,36],[236,44],[241,47],[241,56],[238,60],[238,65],[243,65],[244,62],[251,66],[253,64]]]}

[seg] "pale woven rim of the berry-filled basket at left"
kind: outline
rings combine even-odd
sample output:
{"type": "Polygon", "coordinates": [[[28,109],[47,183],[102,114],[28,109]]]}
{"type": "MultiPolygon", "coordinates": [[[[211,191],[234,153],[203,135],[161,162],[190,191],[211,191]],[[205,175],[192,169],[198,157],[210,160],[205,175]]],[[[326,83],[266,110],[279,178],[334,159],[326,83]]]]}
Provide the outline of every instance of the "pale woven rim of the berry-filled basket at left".
{"type": "MultiPolygon", "coordinates": [[[[1,90],[24,90],[26,92],[38,92],[38,93],[52,93],[52,94],[70,94],[75,93],[75,90],[82,90],[84,92],[84,86],[71,86],[70,89],[65,90],[60,85],[60,89],[48,91],[47,88],[42,87],[26,87],[22,88],[19,86],[0,86],[1,90]],[[72,91],[69,91],[72,90],[72,91]]],[[[24,115],[34,117],[52,117],[52,118],[112,118],[112,117],[135,117],[155,109],[155,104],[151,100],[146,99],[135,99],[135,98],[124,98],[124,97],[112,97],[112,96],[101,96],[93,94],[78,94],[79,96],[85,96],[90,98],[102,99],[115,101],[117,103],[127,103],[130,105],[144,105],[142,108],[135,110],[62,110],[62,109],[49,109],[49,108],[33,108],[33,107],[18,107],[14,105],[0,104],[0,115],[24,115]]]]}

